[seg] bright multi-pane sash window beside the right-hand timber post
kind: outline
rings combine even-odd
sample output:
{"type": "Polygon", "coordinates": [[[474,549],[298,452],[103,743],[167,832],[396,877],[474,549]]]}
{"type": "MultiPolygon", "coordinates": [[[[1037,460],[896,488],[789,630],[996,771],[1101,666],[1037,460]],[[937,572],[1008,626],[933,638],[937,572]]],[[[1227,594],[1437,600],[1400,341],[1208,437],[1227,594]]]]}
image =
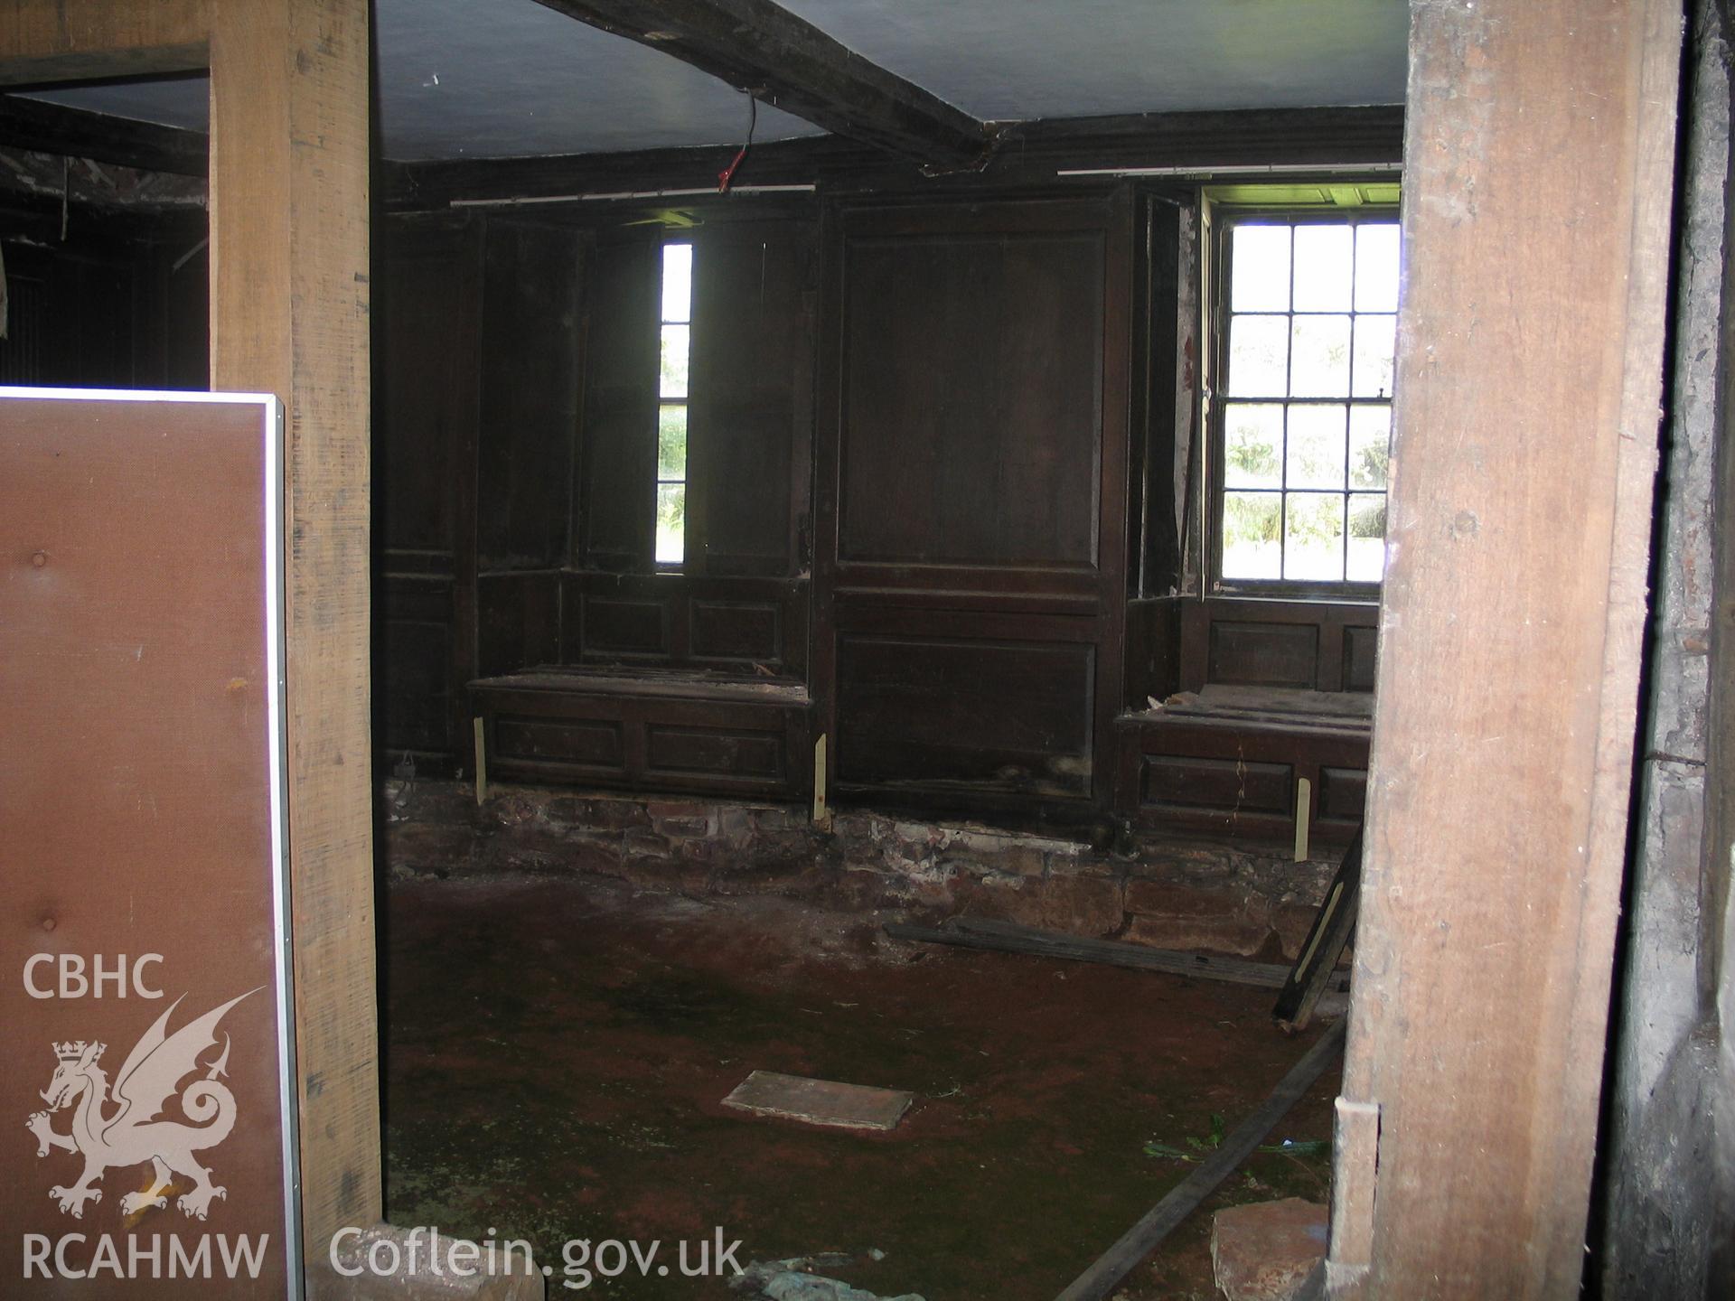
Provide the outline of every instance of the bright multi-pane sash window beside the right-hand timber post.
{"type": "Polygon", "coordinates": [[[1241,217],[1221,250],[1218,579],[1379,583],[1398,224],[1241,217]]]}

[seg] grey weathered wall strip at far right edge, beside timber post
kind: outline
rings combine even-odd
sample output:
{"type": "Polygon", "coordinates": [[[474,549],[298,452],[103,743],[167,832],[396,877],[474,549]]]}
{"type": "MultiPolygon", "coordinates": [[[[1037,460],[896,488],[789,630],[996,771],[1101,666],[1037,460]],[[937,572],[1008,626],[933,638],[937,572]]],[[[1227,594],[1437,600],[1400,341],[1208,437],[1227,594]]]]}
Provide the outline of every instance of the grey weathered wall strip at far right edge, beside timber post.
{"type": "Polygon", "coordinates": [[[1603,1133],[1610,1301],[1704,1296],[1712,1239],[1718,1055],[1702,909],[1730,76],[1709,3],[1693,5],[1688,56],[1648,694],[1603,1133]]]}

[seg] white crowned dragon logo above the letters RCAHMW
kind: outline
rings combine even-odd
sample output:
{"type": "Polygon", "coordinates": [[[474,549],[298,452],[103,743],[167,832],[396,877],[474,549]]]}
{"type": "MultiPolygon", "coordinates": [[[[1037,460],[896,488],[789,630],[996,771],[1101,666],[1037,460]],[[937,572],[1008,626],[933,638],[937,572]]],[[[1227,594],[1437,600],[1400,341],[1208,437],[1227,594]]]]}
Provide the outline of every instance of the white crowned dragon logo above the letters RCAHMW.
{"type": "Polygon", "coordinates": [[[42,1091],[49,1110],[31,1115],[24,1128],[36,1136],[38,1157],[49,1155],[52,1148],[64,1148],[85,1159],[85,1173],[78,1183],[71,1188],[49,1190],[49,1197],[61,1204],[62,1213],[82,1219],[85,1202],[102,1200],[102,1190],[95,1181],[104,1171],[115,1166],[141,1166],[146,1160],[153,1167],[151,1187],[121,1197],[121,1214],[130,1216],[147,1206],[167,1207],[168,1199],[163,1190],[174,1181],[174,1174],[193,1180],[193,1190],[175,1200],[187,1216],[205,1219],[212,1199],[227,1197],[227,1190],[212,1183],[212,1173],[194,1160],[193,1154],[217,1147],[234,1129],[234,1095],[226,1084],[217,1082],[219,1075],[227,1074],[229,1036],[224,1036],[224,1049],[215,1062],[201,1063],[198,1056],[217,1043],[215,1029],[224,1013],[257,992],[250,989],[167,1034],[168,1018],[182,1003],[175,999],[127,1055],[127,1062],[115,1075],[113,1098],[108,1074],[97,1065],[108,1044],[80,1039],[54,1046],[61,1063],[49,1088],[42,1091]],[[193,1124],[156,1119],[175,1093],[175,1086],[201,1065],[205,1079],[194,1079],[180,1091],[180,1110],[193,1124]],[[75,1102],[78,1108],[73,1112],[71,1133],[56,1133],[49,1122],[50,1112],[71,1107],[75,1102]],[[118,1107],[111,1112],[109,1107],[115,1103],[118,1107]]]}

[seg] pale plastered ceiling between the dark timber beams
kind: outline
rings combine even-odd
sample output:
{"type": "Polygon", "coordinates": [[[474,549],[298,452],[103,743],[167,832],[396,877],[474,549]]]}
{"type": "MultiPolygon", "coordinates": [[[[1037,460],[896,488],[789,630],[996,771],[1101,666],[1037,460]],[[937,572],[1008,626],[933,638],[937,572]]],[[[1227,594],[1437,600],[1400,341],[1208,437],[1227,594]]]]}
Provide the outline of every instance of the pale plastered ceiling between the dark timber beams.
{"type": "MultiPolygon", "coordinates": [[[[781,0],[979,118],[1397,104],[1405,0],[781,0]]],[[[397,160],[729,144],[748,106],[658,50],[534,0],[378,0],[397,160]]],[[[201,80],[43,95],[203,130],[201,80]]],[[[758,109],[756,139],[817,128],[758,109]]]]}

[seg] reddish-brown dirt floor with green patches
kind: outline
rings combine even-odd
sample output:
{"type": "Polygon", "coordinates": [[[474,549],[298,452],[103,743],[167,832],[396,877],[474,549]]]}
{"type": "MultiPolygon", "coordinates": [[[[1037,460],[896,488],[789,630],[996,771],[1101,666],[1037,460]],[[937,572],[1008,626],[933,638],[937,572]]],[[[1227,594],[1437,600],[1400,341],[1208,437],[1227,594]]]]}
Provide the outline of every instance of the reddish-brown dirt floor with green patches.
{"type": "MultiPolygon", "coordinates": [[[[394,883],[383,944],[389,1219],[527,1239],[550,1296],[736,1296],[656,1265],[560,1287],[569,1239],[696,1263],[722,1228],[741,1265],[841,1252],[824,1273],[881,1296],[1051,1301],[1192,1167],[1145,1143],[1209,1147],[1313,1037],[1279,1034],[1263,989],[592,879],[394,883]],[[890,1134],[722,1107],[755,1069],[916,1105],[890,1134]]],[[[1327,1072],[1272,1138],[1327,1138],[1336,1091],[1327,1072]]],[[[1322,1202],[1327,1178],[1326,1155],[1254,1155],[1121,1296],[1216,1296],[1211,1213],[1322,1202]]]]}

